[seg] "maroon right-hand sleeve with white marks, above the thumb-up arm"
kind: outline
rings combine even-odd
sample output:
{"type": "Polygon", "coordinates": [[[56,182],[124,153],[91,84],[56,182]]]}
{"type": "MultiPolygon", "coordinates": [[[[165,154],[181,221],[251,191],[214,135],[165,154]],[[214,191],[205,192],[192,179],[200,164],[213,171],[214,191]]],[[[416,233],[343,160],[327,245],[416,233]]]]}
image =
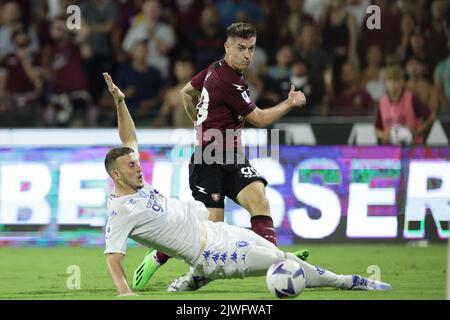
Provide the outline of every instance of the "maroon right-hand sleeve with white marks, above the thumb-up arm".
{"type": "Polygon", "coordinates": [[[245,117],[255,110],[255,103],[250,98],[248,90],[242,85],[227,83],[221,88],[221,91],[227,105],[241,117],[245,117]]]}

